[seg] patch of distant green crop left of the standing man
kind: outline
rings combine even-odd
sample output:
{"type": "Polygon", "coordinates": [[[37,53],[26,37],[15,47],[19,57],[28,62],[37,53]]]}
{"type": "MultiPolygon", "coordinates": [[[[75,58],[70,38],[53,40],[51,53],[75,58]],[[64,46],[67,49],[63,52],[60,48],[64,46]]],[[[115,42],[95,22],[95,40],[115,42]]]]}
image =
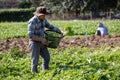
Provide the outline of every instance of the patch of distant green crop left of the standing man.
{"type": "Polygon", "coordinates": [[[27,24],[25,22],[0,23],[0,39],[27,37],[27,24]]]}

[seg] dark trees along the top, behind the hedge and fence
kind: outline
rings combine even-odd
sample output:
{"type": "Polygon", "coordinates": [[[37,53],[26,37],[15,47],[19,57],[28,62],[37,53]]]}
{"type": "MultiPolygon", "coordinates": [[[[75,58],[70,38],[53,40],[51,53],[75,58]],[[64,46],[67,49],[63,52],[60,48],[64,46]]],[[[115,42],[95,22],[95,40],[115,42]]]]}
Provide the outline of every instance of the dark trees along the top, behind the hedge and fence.
{"type": "Polygon", "coordinates": [[[54,14],[79,16],[91,12],[92,16],[96,17],[100,12],[120,11],[120,0],[20,0],[18,4],[18,8],[38,6],[45,6],[50,13],[54,14]]]}

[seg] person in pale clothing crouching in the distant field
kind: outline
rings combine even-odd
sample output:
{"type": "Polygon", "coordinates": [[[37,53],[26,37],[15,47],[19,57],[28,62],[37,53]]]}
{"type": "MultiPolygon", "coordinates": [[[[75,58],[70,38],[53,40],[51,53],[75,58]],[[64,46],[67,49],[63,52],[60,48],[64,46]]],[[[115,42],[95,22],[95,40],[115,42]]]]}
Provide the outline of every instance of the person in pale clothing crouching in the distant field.
{"type": "Polygon", "coordinates": [[[102,23],[98,23],[97,26],[98,26],[98,29],[95,33],[97,36],[108,35],[108,29],[106,26],[104,26],[102,23]]]}

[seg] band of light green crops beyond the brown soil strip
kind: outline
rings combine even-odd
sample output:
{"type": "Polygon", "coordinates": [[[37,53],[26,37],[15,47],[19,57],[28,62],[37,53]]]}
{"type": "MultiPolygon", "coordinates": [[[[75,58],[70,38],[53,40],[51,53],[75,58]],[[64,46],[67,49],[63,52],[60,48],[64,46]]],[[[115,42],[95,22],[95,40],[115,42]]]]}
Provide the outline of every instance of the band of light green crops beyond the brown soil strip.
{"type": "MultiPolygon", "coordinates": [[[[49,21],[54,26],[64,31],[65,36],[95,35],[97,23],[103,22],[108,27],[110,35],[120,34],[119,20],[72,20],[72,21],[49,21]]],[[[27,37],[27,22],[1,22],[0,39],[27,37]]]]}

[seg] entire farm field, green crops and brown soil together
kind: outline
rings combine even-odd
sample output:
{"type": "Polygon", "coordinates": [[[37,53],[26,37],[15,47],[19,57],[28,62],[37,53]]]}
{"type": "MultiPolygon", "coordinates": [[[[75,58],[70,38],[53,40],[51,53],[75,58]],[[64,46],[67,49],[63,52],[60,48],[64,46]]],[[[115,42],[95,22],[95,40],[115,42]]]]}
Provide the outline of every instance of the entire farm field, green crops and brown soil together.
{"type": "Polygon", "coordinates": [[[119,80],[120,21],[50,21],[65,37],[51,49],[50,70],[30,72],[27,22],[0,23],[1,80],[119,80]],[[109,35],[95,36],[96,24],[103,22],[109,35]]]}

